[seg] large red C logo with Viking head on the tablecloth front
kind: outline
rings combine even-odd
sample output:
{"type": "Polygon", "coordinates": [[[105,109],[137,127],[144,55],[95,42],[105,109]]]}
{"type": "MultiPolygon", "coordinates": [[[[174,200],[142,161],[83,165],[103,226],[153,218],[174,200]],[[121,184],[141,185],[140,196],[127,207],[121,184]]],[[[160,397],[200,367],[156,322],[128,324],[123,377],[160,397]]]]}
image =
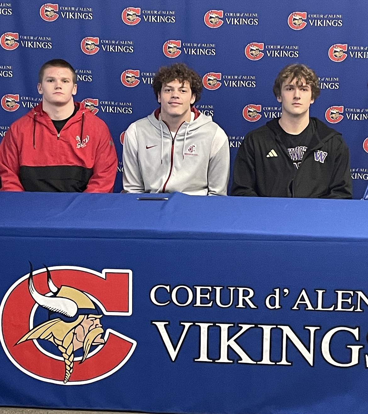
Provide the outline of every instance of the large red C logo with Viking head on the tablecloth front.
{"type": "Polygon", "coordinates": [[[88,384],[115,373],[133,354],[136,341],[107,327],[131,314],[131,270],[34,271],[30,265],[2,299],[0,342],[10,361],[33,378],[88,384]]]}

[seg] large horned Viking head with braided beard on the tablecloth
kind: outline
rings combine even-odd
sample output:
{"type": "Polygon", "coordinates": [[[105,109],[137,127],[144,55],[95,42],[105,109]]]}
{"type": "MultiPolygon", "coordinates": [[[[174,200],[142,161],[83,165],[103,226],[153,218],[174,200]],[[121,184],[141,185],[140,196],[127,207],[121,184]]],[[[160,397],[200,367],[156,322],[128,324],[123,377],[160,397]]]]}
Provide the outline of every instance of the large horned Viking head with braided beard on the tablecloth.
{"type": "MultiPolygon", "coordinates": [[[[31,264],[30,264],[31,265],[31,264]]],[[[67,383],[73,373],[74,352],[83,348],[85,361],[92,345],[104,344],[104,332],[100,319],[102,310],[92,302],[84,292],[69,286],[58,288],[51,280],[47,270],[47,283],[52,296],[38,293],[33,282],[33,267],[29,272],[28,289],[32,298],[39,306],[48,309],[48,320],[37,325],[17,344],[30,339],[46,339],[58,347],[65,362],[64,383],[67,383]]]]}

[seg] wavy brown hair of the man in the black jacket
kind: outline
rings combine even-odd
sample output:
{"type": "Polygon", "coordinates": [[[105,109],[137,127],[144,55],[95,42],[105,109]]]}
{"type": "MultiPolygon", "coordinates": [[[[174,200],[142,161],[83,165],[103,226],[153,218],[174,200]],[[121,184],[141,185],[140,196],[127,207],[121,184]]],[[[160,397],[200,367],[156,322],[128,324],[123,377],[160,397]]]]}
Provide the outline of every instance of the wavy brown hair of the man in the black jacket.
{"type": "Polygon", "coordinates": [[[316,99],[320,94],[321,90],[316,72],[301,63],[292,63],[291,65],[285,66],[275,79],[273,91],[276,98],[281,96],[282,84],[287,79],[291,79],[291,81],[296,79],[298,85],[305,79],[305,83],[309,85],[312,90],[312,99],[316,99]]]}

